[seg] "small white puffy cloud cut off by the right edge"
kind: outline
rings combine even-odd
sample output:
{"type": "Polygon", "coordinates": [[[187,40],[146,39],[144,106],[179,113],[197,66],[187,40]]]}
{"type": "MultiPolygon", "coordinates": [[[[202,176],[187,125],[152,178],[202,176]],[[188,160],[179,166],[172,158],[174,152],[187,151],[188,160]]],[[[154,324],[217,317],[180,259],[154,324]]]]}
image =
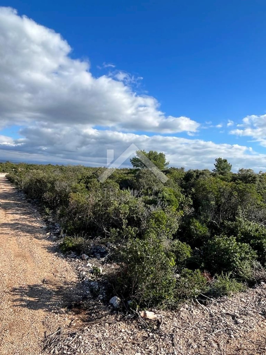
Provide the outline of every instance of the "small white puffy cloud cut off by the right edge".
{"type": "Polygon", "coordinates": [[[266,115],[250,115],[242,120],[238,129],[230,133],[237,136],[248,136],[266,147],[266,115]]]}

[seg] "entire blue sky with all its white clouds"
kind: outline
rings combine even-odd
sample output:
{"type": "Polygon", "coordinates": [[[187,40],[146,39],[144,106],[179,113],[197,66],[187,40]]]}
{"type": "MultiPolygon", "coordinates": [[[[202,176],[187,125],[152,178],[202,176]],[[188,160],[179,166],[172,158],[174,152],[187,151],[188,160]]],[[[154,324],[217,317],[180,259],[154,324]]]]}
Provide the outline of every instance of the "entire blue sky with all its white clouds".
{"type": "Polygon", "coordinates": [[[264,0],[1,4],[0,160],[266,171],[264,0]]]}

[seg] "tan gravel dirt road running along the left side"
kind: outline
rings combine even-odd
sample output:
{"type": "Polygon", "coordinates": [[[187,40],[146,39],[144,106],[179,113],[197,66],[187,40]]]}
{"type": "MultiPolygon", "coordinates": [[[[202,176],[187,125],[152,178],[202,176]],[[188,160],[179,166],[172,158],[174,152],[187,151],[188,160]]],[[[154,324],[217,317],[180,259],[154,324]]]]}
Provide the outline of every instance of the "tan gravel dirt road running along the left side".
{"type": "Polygon", "coordinates": [[[67,323],[76,275],[3,174],[0,204],[0,354],[37,355],[44,332],[67,323]]]}

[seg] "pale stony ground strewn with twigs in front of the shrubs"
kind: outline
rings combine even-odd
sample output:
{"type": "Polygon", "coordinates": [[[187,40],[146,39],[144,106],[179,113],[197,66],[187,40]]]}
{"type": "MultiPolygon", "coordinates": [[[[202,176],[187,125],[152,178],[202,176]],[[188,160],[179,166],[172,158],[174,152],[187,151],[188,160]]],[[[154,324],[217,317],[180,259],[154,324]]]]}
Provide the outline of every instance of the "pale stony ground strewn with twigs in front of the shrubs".
{"type": "MultiPolygon", "coordinates": [[[[159,312],[162,323],[110,314],[60,329],[46,340],[51,354],[265,354],[265,285],[208,306],[159,312]]],[[[154,310],[156,312],[156,310],[154,310]]]]}

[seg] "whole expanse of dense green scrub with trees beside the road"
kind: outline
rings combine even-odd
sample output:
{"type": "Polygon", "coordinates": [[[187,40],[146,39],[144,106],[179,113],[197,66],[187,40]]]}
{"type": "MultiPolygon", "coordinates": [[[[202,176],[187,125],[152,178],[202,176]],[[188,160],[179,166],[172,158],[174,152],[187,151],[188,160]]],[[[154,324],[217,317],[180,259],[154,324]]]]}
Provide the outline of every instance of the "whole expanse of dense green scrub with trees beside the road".
{"type": "Polygon", "coordinates": [[[265,277],[266,173],[167,168],[165,155],[142,151],[167,176],[163,184],[138,157],[132,169],[0,163],[0,172],[65,232],[64,252],[113,246],[111,279],[124,303],[175,307],[192,297],[231,295],[265,277]]]}

